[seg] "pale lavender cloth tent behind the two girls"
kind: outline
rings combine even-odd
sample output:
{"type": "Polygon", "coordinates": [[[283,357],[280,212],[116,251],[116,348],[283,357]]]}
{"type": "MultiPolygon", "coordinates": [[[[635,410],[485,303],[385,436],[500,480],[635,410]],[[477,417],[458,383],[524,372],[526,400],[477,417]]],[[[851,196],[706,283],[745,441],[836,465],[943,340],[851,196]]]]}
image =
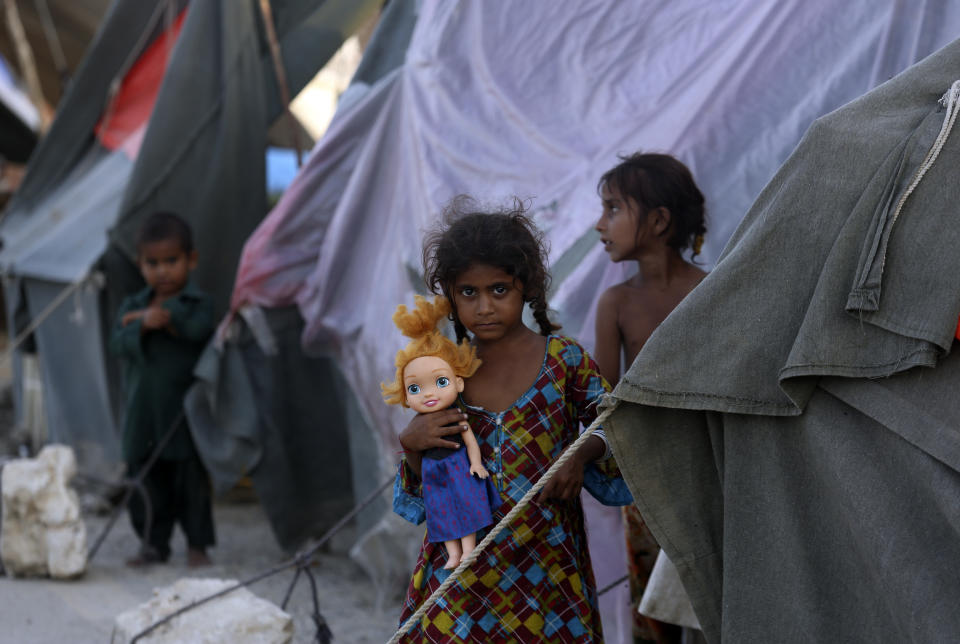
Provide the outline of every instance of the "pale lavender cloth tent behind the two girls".
{"type": "MultiPolygon", "coordinates": [[[[960,7],[424,0],[415,17],[403,63],[381,59],[382,73],[358,79],[244,248],[191,410],[218,437],[223,483],[276,448],[262,422],[241,431],[227,419],[249,417],[241,410],[251,399],[276,408],[276,398],[260,396],[285,395],[251,387],[247,375],[241,386],[254,395],[228,396],[241,354],[248,364],[332,356],[341,385],[315,392],[316,404],[329,394],[350,410],[349,454],[365,479],[356,485],[389,478],[406,424],[378,387],[402,344],[390,315],[423,289],[421,237],[451,197],[529,200],[551,246],[555,317],[590,346],[596,298],[629,270],[610,265],[592,231],[596,181],[618,153],[669,151],[691,167],[708,199],[709,264],[810,123],[949,42],[960,7]]],[[[400,24],[405,43],[408,23],[400,24]]],[[[623,572],[622,539],[616,515],[588,519],[603,586],[623,572]]],[[[357,547],[366,562],[402,574],[410,566],[396,564],[397,543],[409,534],[385,517],[357,547]]],[[[604,600],[608,632],[622,633],[623,595],[604,600]]]]}

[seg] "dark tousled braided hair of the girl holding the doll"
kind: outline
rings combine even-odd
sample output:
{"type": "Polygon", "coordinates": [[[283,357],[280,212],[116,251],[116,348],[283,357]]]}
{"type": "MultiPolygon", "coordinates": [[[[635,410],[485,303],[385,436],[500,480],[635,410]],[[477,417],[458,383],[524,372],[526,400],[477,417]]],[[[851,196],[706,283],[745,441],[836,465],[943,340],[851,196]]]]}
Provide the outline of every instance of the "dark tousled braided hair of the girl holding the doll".
{"type": "MultiPolygon", "coordinates": [[[[550,335],[560,327],[547,317],[547,251],[543,234],[524,212],[519,200],[510,208],[481,212],[469,197],[455,198],[444,208],[443,222],[424,240],[424,279],[433,293],[453,304],[451,289],[461,273],[474,264],[496,266],[523,284],[523,299],[530,303],[540,333],[550,335]]],[[[457,341],[466,338],[456,305],[450,319],[457,341]]]]}

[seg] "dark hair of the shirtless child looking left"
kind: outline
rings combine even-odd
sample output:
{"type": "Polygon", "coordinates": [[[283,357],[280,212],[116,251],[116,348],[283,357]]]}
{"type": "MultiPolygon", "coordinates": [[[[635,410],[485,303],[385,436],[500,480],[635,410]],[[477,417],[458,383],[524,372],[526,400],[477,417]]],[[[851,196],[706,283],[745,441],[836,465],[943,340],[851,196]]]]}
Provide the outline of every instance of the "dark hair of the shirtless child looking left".
{"type": "Polygon", "coordinates": [[[700,254],[707,233],[704,198],[690,169],[669,154],[640,153],[621,156],[621,163],[603,173],[597,191],[606,185],[640,206],[640,217],[654,208],[670,211],[667,245],[700,254]]]}

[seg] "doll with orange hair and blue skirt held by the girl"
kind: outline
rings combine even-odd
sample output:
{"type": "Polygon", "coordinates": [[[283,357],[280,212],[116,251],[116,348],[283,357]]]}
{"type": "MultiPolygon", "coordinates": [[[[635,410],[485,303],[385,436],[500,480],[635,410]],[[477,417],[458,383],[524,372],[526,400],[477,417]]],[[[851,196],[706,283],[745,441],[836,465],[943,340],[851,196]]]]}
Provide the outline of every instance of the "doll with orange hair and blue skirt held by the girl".
{"type": "MultiPolygon", "coordinates": [[[[381,385],[389,404],[429,414],[457,403],[464,378],[476,372],[480,360],[466,340],[458,345],[437,329],[449,313],[450,304],[443,297],[431,303],[418,295],[412,311],[403,304],[397,307],[393,321],[411,341],[397,352],[394,382],[381,385]]],[[[456,568],[476,546],[477,530],[493,523],[500,496],[483,466],[473,431],[466,427],[447,438],[461,448],[425,451],[420,479],[427,540],[443,542],[449,557],[444,568],[456,568]]]]}

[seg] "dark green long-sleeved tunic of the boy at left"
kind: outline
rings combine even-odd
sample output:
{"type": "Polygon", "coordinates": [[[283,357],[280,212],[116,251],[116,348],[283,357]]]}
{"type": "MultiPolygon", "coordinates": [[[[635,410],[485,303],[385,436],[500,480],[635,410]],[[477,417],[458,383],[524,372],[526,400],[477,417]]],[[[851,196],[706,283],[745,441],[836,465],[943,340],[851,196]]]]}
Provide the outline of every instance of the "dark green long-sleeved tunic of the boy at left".
{"type": "MultiPolygon", "coordinates": [[[[145,461],[177,420],[193,382],[193,367],[214,328],[212,299],[190,282],[163,303],[163,308],[170,311],[176,335],[166,331],[141,334],[140,320],[121,324],[125,314],[147,308],[152,296],[153,289],[148,287],[127,297],[110,338],[110,350],[124,359],[127,405],[123,455],[130,466],[145,461]]],[[[179,425],[160,458],[196,457],[186,422],[181,420],[179,425]]]]}

